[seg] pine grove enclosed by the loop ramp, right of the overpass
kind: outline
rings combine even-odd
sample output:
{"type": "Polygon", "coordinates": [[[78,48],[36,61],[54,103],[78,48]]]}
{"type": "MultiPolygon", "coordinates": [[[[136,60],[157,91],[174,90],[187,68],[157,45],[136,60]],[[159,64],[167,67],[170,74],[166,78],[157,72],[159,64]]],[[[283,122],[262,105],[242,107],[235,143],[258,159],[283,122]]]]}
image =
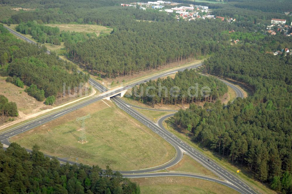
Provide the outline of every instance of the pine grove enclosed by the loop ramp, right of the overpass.
{"type": "Polygon", "coordinates": [[[218,79],[200,75],[196,70],[184,70],[178,72],[174,79],[159,78],[133,87],[130,98],[150,103],[153,107],[155,104],[180,104],[184,107],[190,103],[215,102],[227,91],[227,86],[218,79]],[[208,87],[210,91],[203,92],[204,87],[208,87]]]}

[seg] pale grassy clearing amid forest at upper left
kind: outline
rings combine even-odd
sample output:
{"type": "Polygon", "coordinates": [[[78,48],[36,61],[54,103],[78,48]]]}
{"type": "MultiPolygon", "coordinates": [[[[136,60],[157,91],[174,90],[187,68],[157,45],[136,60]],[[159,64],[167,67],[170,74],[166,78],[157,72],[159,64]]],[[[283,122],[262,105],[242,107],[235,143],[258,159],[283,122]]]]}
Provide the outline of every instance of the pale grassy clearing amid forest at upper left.
{"type": "Polygon", "coordinates": [[[94,32],[97,36],[100,34],[109,34],[112,32],[111,28],[107,28],[99,25],[89,25],[89,24],[45,24],[46,26],[58,27],[61,31],[70,32],[94,32]]]}

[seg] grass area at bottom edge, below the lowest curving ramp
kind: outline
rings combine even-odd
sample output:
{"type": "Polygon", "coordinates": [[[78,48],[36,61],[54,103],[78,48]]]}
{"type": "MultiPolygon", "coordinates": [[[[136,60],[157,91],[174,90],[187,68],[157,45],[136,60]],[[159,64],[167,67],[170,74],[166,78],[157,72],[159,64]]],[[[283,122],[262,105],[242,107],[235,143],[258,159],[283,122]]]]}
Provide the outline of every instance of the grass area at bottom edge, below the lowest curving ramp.
{"type": "Polygon", "coordinates": [[[140,185],[142,194],[238,194],[237,191],[211,181],[190,177],[150,177],[130,179],[140,185]]]}

